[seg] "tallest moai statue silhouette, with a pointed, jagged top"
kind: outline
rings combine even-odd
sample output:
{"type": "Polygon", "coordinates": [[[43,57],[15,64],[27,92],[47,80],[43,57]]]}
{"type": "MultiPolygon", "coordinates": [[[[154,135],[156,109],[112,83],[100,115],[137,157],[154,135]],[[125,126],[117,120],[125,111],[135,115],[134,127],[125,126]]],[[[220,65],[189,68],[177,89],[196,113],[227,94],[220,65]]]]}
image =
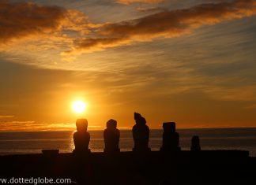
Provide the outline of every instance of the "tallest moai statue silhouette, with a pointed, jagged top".
{"type": "Polygon", "coordinates": [[[149,127],[146,125],[145,118],[139,113],[134,113],[134,120],[136,122],[133,127],[134,151],[150,151],[149,127]]]}

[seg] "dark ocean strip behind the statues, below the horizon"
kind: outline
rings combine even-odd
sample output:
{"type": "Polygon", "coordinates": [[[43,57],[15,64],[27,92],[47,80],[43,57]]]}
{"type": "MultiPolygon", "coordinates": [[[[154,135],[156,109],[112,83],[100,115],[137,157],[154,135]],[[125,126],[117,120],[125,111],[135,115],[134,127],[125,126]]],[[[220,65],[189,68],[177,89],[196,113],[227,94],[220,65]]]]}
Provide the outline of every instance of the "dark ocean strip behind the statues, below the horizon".
{"type": "MultiPolygon", "coordinates": [[[[104,150],[103,131],[88,131],[91,135],[89,148],[92,152],[104,150]]],[[[248,150],[256,157],[256,128],[200,128],[180,129],[179,145],[190,150],[190,140],[198,135],[201,150],[248,150]]],[[[162,130],[150,130],[151,150],[160,150],[162,130]]],[[[131,151],[134,146],[132,133],[120,131],[121,151],[131,151]]],[[[73,131],[12,131],[0,132],[0,155],[39,154],[43,149],[58,149],[60,153],[72,152],[73,131]]]]}

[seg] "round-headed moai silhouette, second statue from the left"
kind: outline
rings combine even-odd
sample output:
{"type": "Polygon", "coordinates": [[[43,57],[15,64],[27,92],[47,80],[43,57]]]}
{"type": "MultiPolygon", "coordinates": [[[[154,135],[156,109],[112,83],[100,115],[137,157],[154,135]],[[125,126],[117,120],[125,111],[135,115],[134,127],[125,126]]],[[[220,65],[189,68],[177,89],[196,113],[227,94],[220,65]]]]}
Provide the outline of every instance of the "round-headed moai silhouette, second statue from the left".
{"type": "Polygon", "coordinates": [[[120,131],[116,128],[117,122],[116,120],[108,120],[107,128],[104,130],[104,142],[105,149],[104,152],[108,154],[119,153],[119,138],[120,131]]]}

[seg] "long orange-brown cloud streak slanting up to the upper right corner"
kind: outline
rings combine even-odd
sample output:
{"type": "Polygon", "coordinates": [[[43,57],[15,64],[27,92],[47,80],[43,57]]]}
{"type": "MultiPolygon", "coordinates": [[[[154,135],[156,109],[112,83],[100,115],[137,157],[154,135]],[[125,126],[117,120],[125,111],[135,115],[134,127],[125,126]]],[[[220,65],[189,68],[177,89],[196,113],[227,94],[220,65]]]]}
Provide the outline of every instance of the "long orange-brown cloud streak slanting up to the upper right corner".
{"type": "Polygon", "coordinates": [[[66,51],[66,54],[93,52],[134,42],[149,42],[160,37],[178,37],[203,25],[251,17],[255,14],[255,0],[209,3],[190,9],[163,11],[139,19],[104,24],[93,36],[75,40],[73,49],[66,51]]]}

